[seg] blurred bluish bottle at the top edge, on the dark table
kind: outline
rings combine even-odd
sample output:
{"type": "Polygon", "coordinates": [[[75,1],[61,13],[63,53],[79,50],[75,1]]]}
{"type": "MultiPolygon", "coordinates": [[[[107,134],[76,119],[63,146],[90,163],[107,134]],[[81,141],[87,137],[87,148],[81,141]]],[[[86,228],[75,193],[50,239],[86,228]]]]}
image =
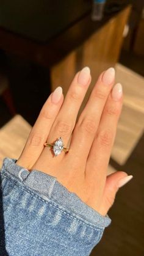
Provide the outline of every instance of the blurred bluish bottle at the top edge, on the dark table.
{"type": "Polygon", "coordinates": [[[106,0],[93,0],[92,20],[101,20],[103,18],[103,10],[106,0]]]}

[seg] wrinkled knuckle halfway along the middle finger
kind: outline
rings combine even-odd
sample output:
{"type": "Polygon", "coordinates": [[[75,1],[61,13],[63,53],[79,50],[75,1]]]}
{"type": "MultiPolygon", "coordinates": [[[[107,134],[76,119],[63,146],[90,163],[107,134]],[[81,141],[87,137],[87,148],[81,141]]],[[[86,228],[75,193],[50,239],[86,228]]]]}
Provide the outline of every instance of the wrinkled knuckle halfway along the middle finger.
{"type": "Polygon", "coordinates": [[[84,119],[81,123],[81,128],[87,133],[95,134],[97,125],[92,119],[84,119]]]}

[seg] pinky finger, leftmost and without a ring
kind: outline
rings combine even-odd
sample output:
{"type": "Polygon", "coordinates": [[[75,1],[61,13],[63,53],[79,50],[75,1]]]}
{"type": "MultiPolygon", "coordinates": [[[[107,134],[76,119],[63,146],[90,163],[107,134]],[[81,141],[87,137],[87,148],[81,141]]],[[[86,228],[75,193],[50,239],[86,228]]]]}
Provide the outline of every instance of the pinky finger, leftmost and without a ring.
{"type": "Polygon", "coordinates": [[[51,126],[63,103],[62,87],[57,87],[41,108],[40,114],[27,138],[26,145],[16,164],[31,169],[43,150],[51,126]]]}

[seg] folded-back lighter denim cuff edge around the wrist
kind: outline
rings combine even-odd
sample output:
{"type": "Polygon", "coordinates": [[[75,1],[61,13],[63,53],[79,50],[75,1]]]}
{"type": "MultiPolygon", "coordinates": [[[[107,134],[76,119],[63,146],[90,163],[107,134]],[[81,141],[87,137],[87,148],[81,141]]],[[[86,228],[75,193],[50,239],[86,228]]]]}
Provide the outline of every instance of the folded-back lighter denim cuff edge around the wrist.
{"type": "Polygon", "coordinates": [[[4,158],[1,174],[22,183],[21,186],[26,186],[45,200],[51,200],[62,210],[87,222],[94,228],[104,229],[110,224],[111,219],[107,214],[103,216],[89,207],[74,192],[68,191],[56,177],[35,169],[29,172],[29,170],[18,166],[16,161],[17,159],[14,158],[4,158]]]}

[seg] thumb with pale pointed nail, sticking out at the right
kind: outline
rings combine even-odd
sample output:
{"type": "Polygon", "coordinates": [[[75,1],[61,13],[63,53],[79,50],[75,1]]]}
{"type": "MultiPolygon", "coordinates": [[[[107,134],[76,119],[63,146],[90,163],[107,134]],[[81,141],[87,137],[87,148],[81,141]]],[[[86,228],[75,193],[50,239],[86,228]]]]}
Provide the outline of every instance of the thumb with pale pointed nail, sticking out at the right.
{"type": "Polygon", "coordinates": [[[107,211],[109,211],[109,208],[113,205],[118,189],[131,180],[132,177],[132,175],[128,175],[126,172],[122,171],[107,176],[103,199],[100,206],[101,214],[104,216],[107,214],[107,211]]]}

